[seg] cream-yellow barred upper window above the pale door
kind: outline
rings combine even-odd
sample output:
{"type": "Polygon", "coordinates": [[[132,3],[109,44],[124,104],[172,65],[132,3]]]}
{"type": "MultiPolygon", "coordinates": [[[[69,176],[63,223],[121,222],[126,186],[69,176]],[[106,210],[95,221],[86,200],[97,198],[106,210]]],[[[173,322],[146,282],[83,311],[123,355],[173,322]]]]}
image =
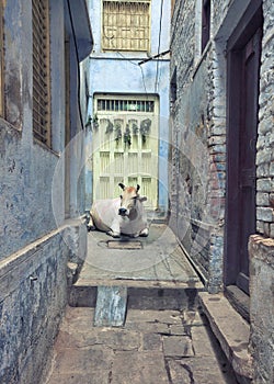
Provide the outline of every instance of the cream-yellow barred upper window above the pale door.
{"type": "Polygon", "coordinates": [[[150,0],[103,0],[103,50],[148,52],[150,0]]]}

